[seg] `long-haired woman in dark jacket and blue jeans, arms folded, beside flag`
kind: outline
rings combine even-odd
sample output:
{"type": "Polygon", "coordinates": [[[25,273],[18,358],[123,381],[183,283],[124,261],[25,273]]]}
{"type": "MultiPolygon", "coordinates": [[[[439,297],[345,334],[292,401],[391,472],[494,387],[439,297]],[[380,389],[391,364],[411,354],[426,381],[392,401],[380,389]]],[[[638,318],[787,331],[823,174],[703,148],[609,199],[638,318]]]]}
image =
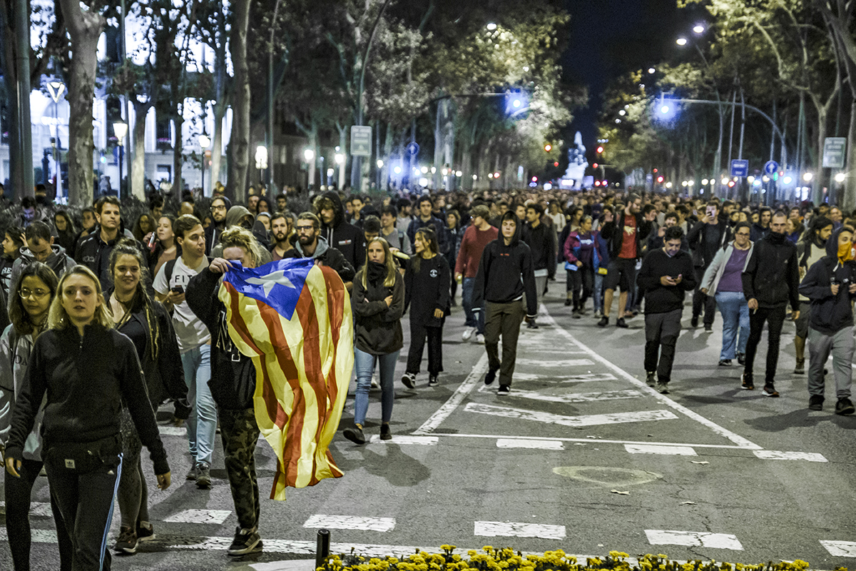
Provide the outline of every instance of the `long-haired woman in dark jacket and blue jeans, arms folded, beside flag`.
{"type": "Polygon", "coordinates": [[[354,369],[357,373],[357,394],[354,399],[354,427],[343,431],[354,443],[366,443],[363,425],[369,407],[369,389],[375,363],[380,364],[382,440],[392,438],[389,419],[395,399],[393,377],[398,353],[404,345],[401,315],[404,314],[404,280],[395,270],[389,243],[372,238],[366,247],[366,265],[354,277],[351,293],[354,312],[354,369]]]}

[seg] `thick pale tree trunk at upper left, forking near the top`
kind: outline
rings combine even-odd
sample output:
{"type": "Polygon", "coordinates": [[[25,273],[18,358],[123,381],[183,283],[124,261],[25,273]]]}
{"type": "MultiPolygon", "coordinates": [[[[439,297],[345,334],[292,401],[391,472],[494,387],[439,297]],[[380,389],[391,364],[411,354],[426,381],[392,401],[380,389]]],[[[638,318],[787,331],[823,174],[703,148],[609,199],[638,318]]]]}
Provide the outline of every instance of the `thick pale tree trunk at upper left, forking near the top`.
{"type": "Polygon", "coordinates": [[[78,0],[60,0],[71,39],[74,65],[68,70],[68,202],[92,204],[92,94],[98,63],[98,37],[104,16],[81,9],[78,0]]]}

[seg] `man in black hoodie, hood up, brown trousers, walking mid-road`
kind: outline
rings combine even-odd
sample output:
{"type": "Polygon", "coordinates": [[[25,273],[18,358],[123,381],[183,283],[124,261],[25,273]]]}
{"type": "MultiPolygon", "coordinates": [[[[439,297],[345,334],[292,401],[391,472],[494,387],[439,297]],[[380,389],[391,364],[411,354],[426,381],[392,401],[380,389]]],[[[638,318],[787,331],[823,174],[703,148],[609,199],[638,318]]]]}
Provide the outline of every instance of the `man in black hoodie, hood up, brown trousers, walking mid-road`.
{"type": "Polygon", "coordinates": [[[514,362],[517,360],[517,337],[520,322],[532,323],[538,312],[532,251],[520,241],[521,222],[512,211],[500,220],[501,237],[484,247],[479,271],[473,286],[473,310],[485,312],[484,348],[488,372],[484,384],[493,383],[499,371],[498,395],[508,395],[514,362]],[[526,294],[526,310],[523,295],[526,294]],[[502,335],[502,361],[499,360],[499,337],[502,335]]]}

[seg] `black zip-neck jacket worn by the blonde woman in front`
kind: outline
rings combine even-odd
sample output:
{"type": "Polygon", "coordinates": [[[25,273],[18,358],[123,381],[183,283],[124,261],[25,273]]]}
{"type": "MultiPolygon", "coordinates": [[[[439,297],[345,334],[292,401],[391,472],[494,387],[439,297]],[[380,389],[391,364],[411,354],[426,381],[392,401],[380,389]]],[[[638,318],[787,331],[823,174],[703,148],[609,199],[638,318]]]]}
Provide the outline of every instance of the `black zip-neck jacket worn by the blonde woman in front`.
{"type": "Polygon", "coordinates": [[[6,455],[21,458],[24,441],[47,393],[45,451],[63,443],[119,438],[122,401],[149,449],[156,474],[169,472],[134,343],[116,330],[86,325],[47,330],[33,344],[27,376],[15,400],[6,455]]]}

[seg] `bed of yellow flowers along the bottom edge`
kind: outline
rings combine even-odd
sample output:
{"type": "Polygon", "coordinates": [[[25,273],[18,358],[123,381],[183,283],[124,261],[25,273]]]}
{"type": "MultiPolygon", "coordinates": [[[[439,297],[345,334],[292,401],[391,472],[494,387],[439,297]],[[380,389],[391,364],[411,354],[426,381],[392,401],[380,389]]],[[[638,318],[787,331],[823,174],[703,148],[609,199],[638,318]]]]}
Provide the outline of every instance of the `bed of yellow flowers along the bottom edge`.
{"type": "MultiPolygon", "coordinates": [[[[665,555],[645,555],[631,558],[627,553],[609,551],[605,557],[587,557],[578,562],[574,556],[562,550],[546,551],[544,554],[527,554],[508,547],[495,549],[485,545],[482,553],[467,551],[467,558],[455,554],[455,545],[441,545],[443,553],[426,553],[416,550],[413,555],[401,558],[387,556],[360,556],[352,552],[345,556],[327,557],[323,567],[317,571],[806,571],[809,564],[804,561],[766,562],[759,564],[703,562],[701,560],[677,562],[665,555]]],[[[847,568],[835,568],[847,571],[847,568]]]]}

